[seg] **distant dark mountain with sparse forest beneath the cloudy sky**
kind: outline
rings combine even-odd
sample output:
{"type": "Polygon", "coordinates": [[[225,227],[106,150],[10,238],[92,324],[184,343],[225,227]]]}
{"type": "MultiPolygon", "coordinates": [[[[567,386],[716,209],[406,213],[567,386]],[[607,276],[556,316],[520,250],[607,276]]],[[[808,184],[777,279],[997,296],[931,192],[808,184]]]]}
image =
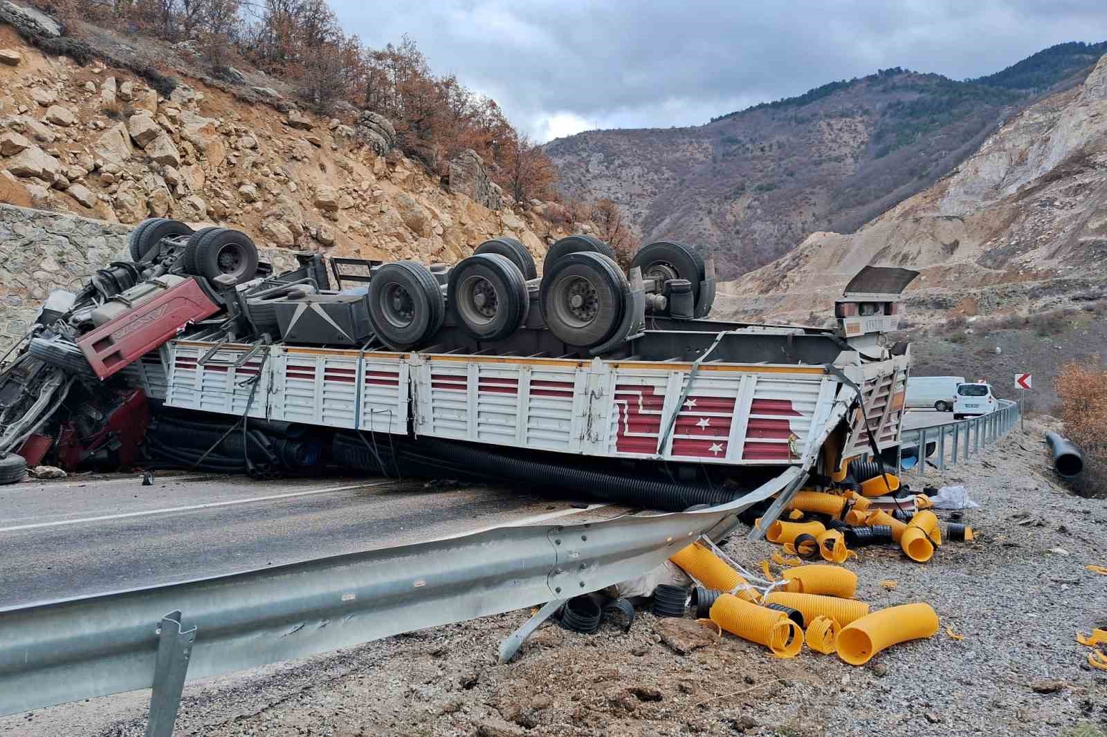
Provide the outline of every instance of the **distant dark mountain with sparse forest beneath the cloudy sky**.
{"type": "Polygon", "coordinates": [[[566,194],[613,199],[646,241],[703,243],[733,278],[925,189],[1026,104],[1078,84],[1105,51],[1061,44],[965,82],[882,70],[707,125],[591,131],[547,152],[566,194]]]}

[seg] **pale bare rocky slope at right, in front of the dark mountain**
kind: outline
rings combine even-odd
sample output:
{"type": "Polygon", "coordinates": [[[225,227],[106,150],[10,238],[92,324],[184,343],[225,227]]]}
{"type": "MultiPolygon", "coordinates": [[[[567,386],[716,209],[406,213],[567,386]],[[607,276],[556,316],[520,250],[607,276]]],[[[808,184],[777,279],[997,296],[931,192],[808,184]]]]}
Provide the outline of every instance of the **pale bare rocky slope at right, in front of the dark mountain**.
{"type": "Polygon", "coordinates": [[[921,272],[915,321],[1033,314],[1107,297],[1107,55],[1007,121],[952,174],[852,235],[815,232],[724,284],[721,314],[826,315],[862,266],[921,272]]]}

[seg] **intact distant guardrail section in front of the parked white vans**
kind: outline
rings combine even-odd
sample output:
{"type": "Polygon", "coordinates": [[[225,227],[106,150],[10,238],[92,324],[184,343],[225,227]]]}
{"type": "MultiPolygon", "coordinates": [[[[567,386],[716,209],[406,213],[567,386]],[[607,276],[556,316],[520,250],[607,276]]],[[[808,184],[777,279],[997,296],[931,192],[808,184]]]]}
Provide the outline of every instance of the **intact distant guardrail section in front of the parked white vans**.
{"type": "Polygon", "coordinates": [[[915,456],[918,461],[909,467],[909,470],[913,469],[921,476],[927,473],[928,463],[939,471],[945,470],[946,466],[955,466],[960,461],[968,460],[973,454],[980,453],[982,448],[1006,435],[1018,422],[1018,403],[1011,399],[996,399],[996,402],[1000,404],[999,409],[986,415],[902,430],[899,451],[896,454],[897,475],[903,473],[903,459],[910,457],[904,456],[904,447],[918,449],[915,456]],[[934,445],[933,451],[928,450],[931,444],[934,445]]]}

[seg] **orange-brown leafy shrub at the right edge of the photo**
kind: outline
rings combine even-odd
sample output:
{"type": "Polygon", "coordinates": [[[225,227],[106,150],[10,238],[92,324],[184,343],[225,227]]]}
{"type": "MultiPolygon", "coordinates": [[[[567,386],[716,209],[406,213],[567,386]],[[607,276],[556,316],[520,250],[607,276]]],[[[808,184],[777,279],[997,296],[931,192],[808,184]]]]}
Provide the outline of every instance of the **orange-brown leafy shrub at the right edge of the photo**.
{"type": "Polygon", "coordinates": [[[1065,434],[1084,451],[1084,490],[1107,495],[1107,365],[1098,355],[1067,363],[1054,387],[1065,434]]]}

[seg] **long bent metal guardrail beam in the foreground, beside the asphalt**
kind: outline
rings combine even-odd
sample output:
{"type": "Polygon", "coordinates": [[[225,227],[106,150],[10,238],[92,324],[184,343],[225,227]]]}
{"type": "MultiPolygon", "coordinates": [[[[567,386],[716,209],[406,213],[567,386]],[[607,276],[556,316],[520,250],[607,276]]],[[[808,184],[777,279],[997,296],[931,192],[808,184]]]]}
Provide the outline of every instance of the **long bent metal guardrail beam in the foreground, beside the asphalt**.
{"type": "Polygon", "coordinates": [[[195,627],[187,656],[187,675],[194,679],[596,591],[660,564],[804,473],[790,467],[735,501],[706,510],[497,528],[2,609],[0,715],[152,687],[159,623],[174,610],[183,613],[183,631],[195,627]]]}

